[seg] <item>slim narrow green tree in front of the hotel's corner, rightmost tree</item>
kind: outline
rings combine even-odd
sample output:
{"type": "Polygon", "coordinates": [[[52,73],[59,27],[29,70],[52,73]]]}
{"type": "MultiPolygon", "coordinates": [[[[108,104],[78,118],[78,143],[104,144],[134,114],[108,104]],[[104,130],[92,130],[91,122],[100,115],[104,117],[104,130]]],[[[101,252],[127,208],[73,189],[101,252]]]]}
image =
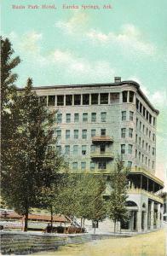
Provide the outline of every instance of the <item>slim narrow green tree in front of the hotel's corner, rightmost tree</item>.
{"type": "Polygon", "coordinates": [[[118,221],[125,221],[128,218],[128,211],[125,207],[127,199],[127,175],[129,170],[124,168],[121,159],[116,161],[116,166],[110,177],[111,195],[108,201],[108,215],[114,222],[114,232],[118,221]]]}

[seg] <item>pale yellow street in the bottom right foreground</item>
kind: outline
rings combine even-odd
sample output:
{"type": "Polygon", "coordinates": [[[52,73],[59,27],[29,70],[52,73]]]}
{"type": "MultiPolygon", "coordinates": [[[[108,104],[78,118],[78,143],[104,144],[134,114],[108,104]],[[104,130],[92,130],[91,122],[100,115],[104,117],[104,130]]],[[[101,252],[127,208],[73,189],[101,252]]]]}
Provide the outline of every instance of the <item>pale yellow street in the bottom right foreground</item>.
{"type": "Polygon", "coordinates": [[[130,238],[116,238],[89,241],[79,245],[59,247],[57,251],[34,253],[34,255],[55,256],[165,256],[166,230],[137,235],[130,238]]]}

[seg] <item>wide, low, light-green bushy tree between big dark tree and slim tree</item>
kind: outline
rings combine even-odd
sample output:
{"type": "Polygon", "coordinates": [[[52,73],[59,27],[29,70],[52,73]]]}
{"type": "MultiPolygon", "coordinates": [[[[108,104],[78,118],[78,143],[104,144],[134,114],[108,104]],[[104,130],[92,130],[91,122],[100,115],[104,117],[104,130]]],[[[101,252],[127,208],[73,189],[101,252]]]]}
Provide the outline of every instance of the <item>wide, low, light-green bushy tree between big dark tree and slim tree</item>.
{"type": "Polygon", "coordinates": [[[106,203],[102,193],[106,188],[103,177],[92,174],[65,174],[60,178],[52,203],[54,212],[84,219],[102,220],[107,216],[106,203]]]}

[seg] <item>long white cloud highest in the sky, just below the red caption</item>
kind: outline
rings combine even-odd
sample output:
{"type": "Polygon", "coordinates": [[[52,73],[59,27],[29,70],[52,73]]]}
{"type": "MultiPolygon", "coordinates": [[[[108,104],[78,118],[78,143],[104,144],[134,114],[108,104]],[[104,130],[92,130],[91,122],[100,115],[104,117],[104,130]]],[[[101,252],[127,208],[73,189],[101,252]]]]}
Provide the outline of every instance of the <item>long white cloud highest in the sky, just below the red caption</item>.
{"type": "Polygon", "coordinates": [[[102,47],[117,46],[123,54],[142,54],[155,55],[156,47],[143,38],[142,32],[133,24],[124,24],[120,27],[120,32],[104,33],[97,29],[89,29],[88,16],[83,13],[77,13],[68,21],[60,20],[55,26],[62,32],[75,35],[75,38],[87,39],[92,44],[98,44],[102,47]]]}

